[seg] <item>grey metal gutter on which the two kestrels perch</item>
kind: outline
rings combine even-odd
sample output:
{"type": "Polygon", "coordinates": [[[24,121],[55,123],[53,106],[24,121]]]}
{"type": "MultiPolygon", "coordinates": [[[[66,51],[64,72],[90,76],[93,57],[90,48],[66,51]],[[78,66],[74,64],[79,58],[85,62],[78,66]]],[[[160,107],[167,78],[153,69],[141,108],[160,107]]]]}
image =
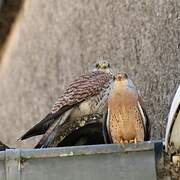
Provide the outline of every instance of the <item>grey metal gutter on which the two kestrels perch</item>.
{"type": "Polygon", "coordinates": [[[7,149],[0,180],[154,180],[161,159],[161,142],[7,149]]]}

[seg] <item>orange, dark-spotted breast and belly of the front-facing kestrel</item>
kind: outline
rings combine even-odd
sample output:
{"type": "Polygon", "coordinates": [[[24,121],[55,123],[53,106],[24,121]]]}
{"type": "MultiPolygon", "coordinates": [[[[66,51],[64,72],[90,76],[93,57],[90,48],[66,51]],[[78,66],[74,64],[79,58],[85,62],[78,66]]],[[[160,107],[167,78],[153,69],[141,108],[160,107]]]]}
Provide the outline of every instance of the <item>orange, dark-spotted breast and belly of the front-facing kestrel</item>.
{"type": "Polygon", "coordinates": [[[137,95],[133,90],[124,88],[112,91],[108,100],[109,128],[112,139],[131,140],[136,137],[137,123],[140,118],[137,102],[137,95]]]}

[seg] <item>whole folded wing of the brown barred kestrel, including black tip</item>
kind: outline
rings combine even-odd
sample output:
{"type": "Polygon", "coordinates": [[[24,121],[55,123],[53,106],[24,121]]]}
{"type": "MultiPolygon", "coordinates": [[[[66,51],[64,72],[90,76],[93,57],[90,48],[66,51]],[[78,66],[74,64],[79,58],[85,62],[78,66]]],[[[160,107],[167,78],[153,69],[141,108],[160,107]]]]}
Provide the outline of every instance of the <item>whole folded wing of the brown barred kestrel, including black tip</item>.
{"type": "Polygon", "coordinates": [[[66,89],[63,96],[54,104],[51,112],[39,123],[27,131],[20,139],[44,134],[61,114],[71,109],[74,105],[97,95],[112,79],[112,75],[94,71],[80,76],[66,89]]]}

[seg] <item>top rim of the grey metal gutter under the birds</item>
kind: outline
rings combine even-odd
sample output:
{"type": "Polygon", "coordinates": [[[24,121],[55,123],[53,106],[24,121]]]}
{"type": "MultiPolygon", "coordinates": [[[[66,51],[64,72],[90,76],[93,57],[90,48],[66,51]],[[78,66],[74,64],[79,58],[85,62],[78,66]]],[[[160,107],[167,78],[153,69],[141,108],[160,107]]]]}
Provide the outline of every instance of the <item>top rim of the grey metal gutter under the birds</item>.
{"type": "Polygon", "coordinates": [[[163,144],[162,141],[146,141],[137,144],[102,144],[90,146],[71,146],[57,147],[46,149],[6,149],[0,152],[0,160],[4,160],[6,154],[19,154],[23,159],[50,158],[50,157],[67,157],[93,154],[109,153],[128,153],[137,151],[155,151],[157,144],[163,144]]]}

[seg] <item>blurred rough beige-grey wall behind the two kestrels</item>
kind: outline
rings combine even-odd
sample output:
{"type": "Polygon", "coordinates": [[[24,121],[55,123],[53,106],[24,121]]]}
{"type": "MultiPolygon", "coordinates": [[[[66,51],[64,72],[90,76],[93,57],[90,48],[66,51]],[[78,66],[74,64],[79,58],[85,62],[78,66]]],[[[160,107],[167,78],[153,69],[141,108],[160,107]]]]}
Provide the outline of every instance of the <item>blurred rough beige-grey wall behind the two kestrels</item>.
{"type": "Polygon", "coordinates": [[[17,142],[98,57],[140,90],[152,139],[164,137],[180,79],[179,0],[27,0],[0,64],[0,138],[17,142]]]}

